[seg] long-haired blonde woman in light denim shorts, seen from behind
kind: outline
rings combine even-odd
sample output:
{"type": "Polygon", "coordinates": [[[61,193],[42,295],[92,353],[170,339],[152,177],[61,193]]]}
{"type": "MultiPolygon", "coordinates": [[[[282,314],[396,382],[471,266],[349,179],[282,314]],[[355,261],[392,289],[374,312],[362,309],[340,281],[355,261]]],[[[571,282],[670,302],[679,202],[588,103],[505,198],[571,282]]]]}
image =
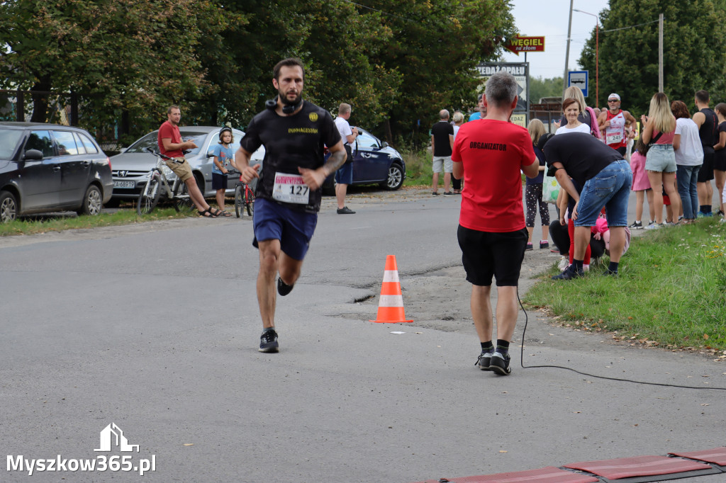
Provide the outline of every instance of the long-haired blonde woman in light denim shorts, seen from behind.
{"type": "MultiPolygon", "coordinates": [[[[653,189],[653,207],[656,209],[656,221],[645,227],[646,230],[663,226],[663,191],[671,199],[674,215],[678,216],[681,208],[680,196],[675,187],[676,155],[673,151],[673,138],[676,131],[676,118],[671,112],[668,96],[658,92],[650,99],[648,115],[640,117],[645,125],[643,143],[650,144],[645,156],[645,171],[653,189]]],[[[674,224],[674,223],[673,223],[674,224]]]]}

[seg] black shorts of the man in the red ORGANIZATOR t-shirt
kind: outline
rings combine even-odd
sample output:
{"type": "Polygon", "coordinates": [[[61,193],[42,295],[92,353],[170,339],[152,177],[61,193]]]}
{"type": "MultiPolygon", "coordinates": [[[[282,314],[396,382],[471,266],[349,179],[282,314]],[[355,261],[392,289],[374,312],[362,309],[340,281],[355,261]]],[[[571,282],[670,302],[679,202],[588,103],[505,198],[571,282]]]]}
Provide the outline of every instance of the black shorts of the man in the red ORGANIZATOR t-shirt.
{"type": "Polygon", "coordinates": [[[527,245],[526,228],[492,233],[470,230],[460,225],[457,237],[466,280],[470,284],[491,286],[493,276],[497,279],[497,286],[518,285],[527,245]]]}

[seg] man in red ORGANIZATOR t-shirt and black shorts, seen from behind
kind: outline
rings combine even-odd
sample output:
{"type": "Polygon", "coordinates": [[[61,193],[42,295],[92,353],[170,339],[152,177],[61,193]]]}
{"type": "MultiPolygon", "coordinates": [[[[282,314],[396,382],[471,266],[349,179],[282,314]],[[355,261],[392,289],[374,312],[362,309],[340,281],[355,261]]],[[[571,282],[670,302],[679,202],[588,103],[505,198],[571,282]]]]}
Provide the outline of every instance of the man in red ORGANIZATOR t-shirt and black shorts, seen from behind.
{"type": "Polygon", "coordinates": [[[527,244],[522,178],[536,178],[539,162],[527,130],[509,122],[517,81],[505,71],[486,81],[486,117],[462,125],[454,141],[454,177],[464,176],[459,246],[471,286],[471,315],[481,343],[482,371],[506,376],[517,323],[517,284],[527,244]],[[497,347],[492,344],[492,276],[497,279],[497,347]]]}

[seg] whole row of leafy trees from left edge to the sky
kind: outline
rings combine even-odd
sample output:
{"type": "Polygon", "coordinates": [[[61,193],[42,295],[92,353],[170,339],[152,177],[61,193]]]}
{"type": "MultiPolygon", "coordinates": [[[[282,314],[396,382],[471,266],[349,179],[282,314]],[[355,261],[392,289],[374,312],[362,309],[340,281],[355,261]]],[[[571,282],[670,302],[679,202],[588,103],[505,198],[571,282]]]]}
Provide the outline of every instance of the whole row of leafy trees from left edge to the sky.
{"type": "MultiPolygon", "coordinates": [[[[351,123],[412,141],[442,107],[473,107],[476,65],[515,33],[506,0],[0,5],[0,87],[83,93],[81,125],[126,141],[157,128],[171,103],[185,124],[244,127],[276,94],[272,67],[285,57],[305,63],[306,99],[334,114],[348,102],[351,123]]],[[[36,96],[34,119],[49,118],[48,103],[36,96]]]]}

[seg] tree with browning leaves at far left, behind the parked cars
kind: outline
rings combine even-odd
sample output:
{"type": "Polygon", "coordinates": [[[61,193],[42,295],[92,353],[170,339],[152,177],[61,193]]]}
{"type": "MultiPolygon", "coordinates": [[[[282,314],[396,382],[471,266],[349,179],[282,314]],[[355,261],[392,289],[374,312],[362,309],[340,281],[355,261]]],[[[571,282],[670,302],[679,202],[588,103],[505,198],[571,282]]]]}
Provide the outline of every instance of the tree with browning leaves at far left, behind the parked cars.
{"type": "MultiPolygon", "coordinates": [[[[108,127],[130,112],[148,131],[164,107],[208,85],[197,25],[222,28],[219,14],[208,0],[5,1],[0,85],[80,92],[92,113],[84,127],[108,127]]],[[[46,121],[45,99],[33,96],[33,121],[46,121]]]]}

